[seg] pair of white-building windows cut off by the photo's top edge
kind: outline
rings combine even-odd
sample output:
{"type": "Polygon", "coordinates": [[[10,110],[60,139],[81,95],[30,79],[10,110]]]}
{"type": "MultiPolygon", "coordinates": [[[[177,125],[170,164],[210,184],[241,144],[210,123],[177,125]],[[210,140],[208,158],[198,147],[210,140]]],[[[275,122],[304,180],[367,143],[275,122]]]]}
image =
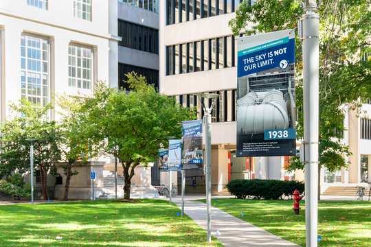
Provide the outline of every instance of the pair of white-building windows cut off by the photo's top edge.
{"type": "MultiPolygon", "coordinates": [[[[27,0],[27,5],[47,10],[47,0],[27,0]]],[[[74,0],[74,16],[91,21],[91,0],[74,0]]]]}

